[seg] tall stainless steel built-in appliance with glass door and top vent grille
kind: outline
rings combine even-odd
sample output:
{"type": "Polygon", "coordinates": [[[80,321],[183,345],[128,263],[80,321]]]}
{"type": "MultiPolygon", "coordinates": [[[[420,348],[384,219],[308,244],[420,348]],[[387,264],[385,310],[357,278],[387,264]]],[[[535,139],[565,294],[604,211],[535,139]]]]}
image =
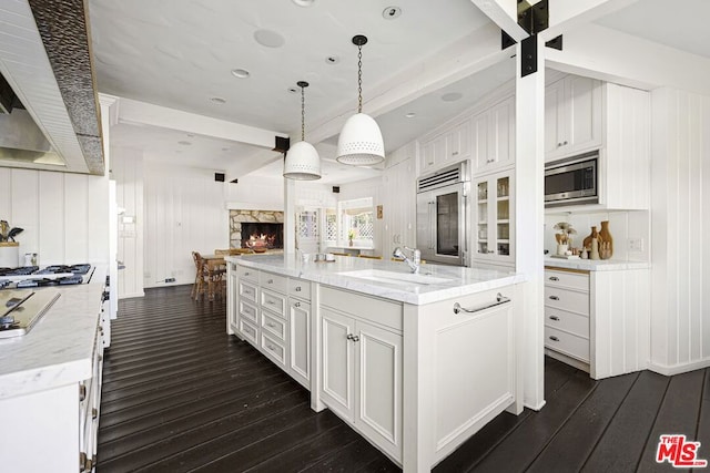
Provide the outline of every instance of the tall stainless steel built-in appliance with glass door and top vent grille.
{"type": "Polygon", "coordinates": [[[417,248],[422,259],[466,266],[466,162],[417,179],[417,248]]]}

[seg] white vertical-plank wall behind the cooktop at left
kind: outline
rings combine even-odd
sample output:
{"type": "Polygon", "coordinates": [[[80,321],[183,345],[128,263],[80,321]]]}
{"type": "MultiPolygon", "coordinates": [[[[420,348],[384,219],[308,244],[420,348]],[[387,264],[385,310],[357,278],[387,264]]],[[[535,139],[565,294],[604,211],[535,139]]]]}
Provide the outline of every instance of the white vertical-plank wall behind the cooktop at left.
{"type": "Polygon", "coordinates": [[[105,176],[0,167],[0,219],[24,228],[19,254],[40,266],[106,264],[108,212],[105,176]]]}

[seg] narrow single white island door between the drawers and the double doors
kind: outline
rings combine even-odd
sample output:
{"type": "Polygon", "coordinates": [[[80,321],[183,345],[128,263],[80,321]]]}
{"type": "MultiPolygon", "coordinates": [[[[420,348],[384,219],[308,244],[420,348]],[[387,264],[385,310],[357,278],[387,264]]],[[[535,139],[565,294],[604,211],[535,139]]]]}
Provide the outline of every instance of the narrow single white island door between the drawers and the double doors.
{"type": "Polygon", "coordinates": [[[288,370],[304,387],[311,387],[311,305],[291,300],[288,305],[288,370]]]}

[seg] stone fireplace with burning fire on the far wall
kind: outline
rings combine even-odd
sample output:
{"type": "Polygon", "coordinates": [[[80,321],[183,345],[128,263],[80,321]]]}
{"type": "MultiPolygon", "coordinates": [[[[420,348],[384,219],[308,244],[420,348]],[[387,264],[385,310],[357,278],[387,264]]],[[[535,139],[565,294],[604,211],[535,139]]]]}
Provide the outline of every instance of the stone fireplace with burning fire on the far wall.
{"type": "Polygon", "coordinates": [[[284,213],[230,210],[230,248],[284,247],[284,213]]]}

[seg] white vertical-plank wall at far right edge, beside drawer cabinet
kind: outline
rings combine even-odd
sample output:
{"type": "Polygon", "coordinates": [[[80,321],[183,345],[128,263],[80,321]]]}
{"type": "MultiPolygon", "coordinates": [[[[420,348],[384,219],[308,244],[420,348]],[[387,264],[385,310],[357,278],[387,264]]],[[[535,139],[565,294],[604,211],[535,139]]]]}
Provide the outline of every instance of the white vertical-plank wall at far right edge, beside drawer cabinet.
{"type": "Polygon", "coordinates": [[[710,366],[710,97],[652,93],[651,368],[710,366]]]}

